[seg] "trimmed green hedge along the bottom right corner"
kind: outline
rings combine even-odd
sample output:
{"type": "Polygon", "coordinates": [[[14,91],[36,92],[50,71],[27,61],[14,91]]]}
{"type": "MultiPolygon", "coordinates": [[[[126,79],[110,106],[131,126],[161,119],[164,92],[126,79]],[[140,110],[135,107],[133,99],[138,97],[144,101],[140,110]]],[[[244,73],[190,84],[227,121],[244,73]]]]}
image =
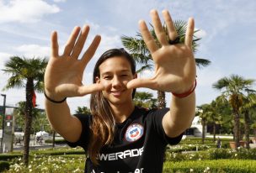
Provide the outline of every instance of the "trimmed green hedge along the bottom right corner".
{"type": "Polygon", "coordinates": [[[165,162],[164,173],[254,173],[256,160],[191,160],[182,162],[165,162]]]}

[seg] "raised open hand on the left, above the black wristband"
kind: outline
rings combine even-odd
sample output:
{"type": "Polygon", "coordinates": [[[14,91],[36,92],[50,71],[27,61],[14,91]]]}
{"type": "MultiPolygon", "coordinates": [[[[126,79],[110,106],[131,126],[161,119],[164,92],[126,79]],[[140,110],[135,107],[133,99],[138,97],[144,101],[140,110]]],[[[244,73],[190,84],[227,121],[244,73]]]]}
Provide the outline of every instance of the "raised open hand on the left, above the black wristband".
{"type": "Polygon", "coordinates": [[[104,88],[100,84],[84,86],[82,83],[83,71],[99,46],[100,36],[95,36],[82,59],[78,60],[87,39],[89,27],[84,26],[81,33],[80,30],[79,27],[73,29],[63,55],[59,55],[57,33],[51,34],[51,58],[45,70],[45,93],[54,100],[83,96],[104,88]]]}

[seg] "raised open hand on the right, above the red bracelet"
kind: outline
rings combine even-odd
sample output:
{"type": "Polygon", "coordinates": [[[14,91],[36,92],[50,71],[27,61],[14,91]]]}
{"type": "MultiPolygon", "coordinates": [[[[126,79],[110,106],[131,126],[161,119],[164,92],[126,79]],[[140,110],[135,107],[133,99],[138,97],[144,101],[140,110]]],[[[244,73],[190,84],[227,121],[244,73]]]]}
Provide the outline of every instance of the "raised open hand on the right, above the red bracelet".
{"type": "MultiPolygon", "coordinates": [[[[147,29],[147,24],[144,21],[140,21],[139,24],[142,37],[155,63],[154,76],[147,79],[131,80],[127,83],[127,87],[148,87],[154,90],[175,93],[187,92],[195,81],[195,59],[192,51],[194,19],[189,18],[184,45],[170,45],[156,10],[151,11],[151,17],[157,39],[161,44],[160,47],[147,29]]],[[[167,10],[163,11],[163,18],[168,28],[169,39],[176,39],[178,34],[167,10]]]]}

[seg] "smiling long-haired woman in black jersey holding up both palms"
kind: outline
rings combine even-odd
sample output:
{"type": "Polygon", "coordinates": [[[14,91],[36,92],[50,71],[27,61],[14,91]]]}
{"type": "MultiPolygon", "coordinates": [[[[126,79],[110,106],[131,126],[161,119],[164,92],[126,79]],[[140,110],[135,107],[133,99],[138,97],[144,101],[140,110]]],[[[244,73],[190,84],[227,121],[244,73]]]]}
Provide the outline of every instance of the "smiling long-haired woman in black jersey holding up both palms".
{"type": "Polygon", "coordinates": [[[162,172],[167,144],[178,144],[195,115],[195,59],[192,52],[194,20],[189,18],[184,45],[167,10],[163,18],[169,40],[156,10],[151,11],[157,44],[144,21],[143,39],[155,63],[149,79],[136,76],[134,61],[125,50],[108,50],[93,71],[93,84],[83,86],[83,71],[97,49],[96,36],[81,60],[77,60],[88,36],[88,26],[75,28],[63,55],[58,54],[57,35],[51,36],[51,59],[45,71],[45,109],[52,128],[72,147],[88,154],[85,172],[162,172]],[[77,39],[78,37],[78,39],[77,39]],[[77,40],[77,41],[76,41],[77,40]],[[172,92],[170,108],[146,110],[135,107],[136,87],[172,92]],[[92,115],[70,114],[66,97],[92,94],[92,115]]]}

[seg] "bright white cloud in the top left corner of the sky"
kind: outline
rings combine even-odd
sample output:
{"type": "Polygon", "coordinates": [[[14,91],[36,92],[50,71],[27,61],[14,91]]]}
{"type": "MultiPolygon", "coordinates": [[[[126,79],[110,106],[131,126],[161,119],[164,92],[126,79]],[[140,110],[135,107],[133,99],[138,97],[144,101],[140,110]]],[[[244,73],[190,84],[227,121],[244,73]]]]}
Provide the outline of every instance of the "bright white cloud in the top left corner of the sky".
{"type": "Polygon", "coordinates": [[[43,0],[0,0],[0,11],[0,23],[35,23],[46,14],[60,12],[60,8],[43,0]]]}

